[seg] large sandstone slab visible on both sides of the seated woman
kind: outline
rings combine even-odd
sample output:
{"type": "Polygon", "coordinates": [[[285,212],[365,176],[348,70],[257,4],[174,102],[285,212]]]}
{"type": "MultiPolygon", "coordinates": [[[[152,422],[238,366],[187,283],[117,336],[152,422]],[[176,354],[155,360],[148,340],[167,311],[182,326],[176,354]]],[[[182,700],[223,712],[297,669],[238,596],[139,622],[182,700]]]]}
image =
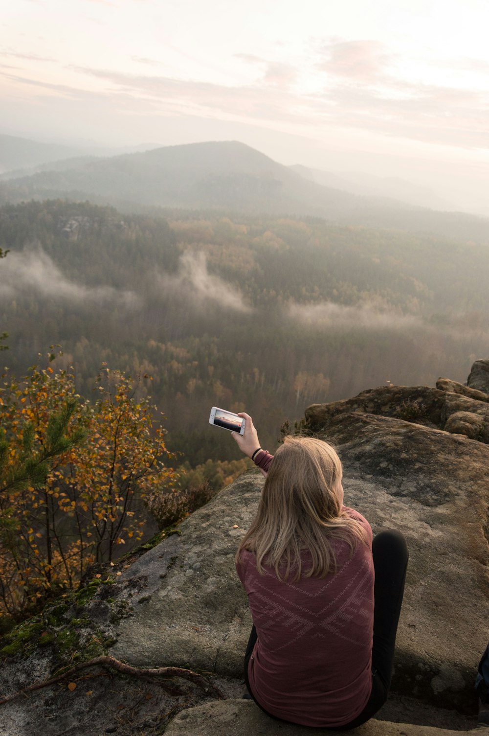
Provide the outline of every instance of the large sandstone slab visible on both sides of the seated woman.
{"type": "MultiPolygon", "coordinates": [[[[321,436],[338,447],[346,503],[374,533],[399,528],[410,545],[394,689],[470,710],[488,636],[489,447],[364,413],[326,412],[321,436]]],[[[234,553],[262,485],[256,473],[241,476],[141,560],[154,575],[112,654],[240,676],[251,621],[234,553]]]]}

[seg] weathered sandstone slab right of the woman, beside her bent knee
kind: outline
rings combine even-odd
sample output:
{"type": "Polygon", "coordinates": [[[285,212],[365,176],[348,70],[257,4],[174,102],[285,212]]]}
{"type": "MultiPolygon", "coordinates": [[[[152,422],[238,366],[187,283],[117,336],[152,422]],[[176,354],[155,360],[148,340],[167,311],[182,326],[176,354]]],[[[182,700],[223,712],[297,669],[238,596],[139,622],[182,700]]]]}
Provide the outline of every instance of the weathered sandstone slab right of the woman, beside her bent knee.
{"type": "Polygon", "coordinates": [[[410,546],[394,687],[468,707],[488,637],[489,447],[361,413],[324,422],[322,436],[338,447],[347,502],[410,546]]]}

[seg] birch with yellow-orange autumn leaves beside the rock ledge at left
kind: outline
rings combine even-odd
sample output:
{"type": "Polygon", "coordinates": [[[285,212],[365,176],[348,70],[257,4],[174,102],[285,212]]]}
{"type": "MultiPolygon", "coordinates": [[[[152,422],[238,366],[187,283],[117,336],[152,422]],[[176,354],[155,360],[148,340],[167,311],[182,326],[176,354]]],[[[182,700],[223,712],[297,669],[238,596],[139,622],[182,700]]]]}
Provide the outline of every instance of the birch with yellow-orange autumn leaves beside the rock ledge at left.
{"type": "Polygon", "coordinates": [[[176,478],[138,381],[104,366],[84,401],[55,358],[0,386],[0,615],[14,618],[139,542],[176,478]]]}

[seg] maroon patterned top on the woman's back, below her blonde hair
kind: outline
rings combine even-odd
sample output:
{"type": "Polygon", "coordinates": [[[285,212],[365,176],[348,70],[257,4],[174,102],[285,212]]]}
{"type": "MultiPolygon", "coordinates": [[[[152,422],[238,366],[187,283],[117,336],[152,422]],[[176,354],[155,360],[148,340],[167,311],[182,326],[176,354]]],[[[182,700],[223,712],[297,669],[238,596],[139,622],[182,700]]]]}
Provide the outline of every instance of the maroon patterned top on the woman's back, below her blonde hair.
{"type": "MultiPolygon", "coordinates": [[[[237,565],[258,634],[249,662],[251,690],[271,715],[304,726],[348,723],[371,692],[372,532],[361,514],[343,511],[365,528],[366,543],[351,554],[347,542],[332,539],[336,573],[281,580],[273,567],[258,573],[246,549],[237,565]]],[[[303,570],[310,567],[307,551],[301,562],[303,570]]]]}

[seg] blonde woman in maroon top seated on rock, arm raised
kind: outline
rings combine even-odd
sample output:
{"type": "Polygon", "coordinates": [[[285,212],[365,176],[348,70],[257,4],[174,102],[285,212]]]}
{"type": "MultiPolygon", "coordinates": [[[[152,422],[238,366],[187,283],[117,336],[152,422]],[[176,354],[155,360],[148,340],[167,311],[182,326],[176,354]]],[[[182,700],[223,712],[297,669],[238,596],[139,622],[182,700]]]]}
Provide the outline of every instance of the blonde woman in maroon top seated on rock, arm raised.
{"type": "Polygon", "coordinates": [[[372,531],[343,506],[335,450],[288,437],[272,457],[251,417],[233,433],[266,481],[236,555],[254,626],[245,682],[274,718],[351,729],[388,696],[407,567],[397,531],[372,531]],[[375,601],[375,613],[374,613],[375,601]]]}

